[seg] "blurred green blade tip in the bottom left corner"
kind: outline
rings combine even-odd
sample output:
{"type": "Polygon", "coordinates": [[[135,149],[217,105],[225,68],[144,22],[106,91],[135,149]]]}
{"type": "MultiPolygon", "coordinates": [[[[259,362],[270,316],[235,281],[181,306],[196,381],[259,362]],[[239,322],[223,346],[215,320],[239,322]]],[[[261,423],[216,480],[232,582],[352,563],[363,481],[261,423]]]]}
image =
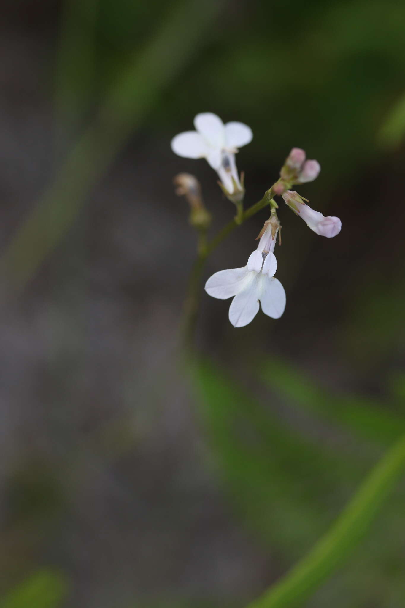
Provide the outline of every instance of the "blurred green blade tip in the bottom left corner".
{"type": "Polygon", "coordinates": [[[0,608],[56,608],[67,595],[66,578],[54,570],[38,570],[0,599],[0,608]]]}

